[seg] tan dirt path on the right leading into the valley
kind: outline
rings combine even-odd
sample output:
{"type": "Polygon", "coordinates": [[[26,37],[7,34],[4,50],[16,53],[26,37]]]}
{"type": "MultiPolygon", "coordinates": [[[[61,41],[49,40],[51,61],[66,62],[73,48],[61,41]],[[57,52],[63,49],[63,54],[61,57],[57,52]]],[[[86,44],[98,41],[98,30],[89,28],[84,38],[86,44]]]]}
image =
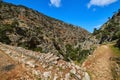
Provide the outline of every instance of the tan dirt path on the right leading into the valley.
{"type": "Polygon", "coordinates": [[[109,46],[98,47],[93,55],[83,63],[83,67],[90,73],[92,80],[112,80],[110,57],[112,51],[109,46]]]}

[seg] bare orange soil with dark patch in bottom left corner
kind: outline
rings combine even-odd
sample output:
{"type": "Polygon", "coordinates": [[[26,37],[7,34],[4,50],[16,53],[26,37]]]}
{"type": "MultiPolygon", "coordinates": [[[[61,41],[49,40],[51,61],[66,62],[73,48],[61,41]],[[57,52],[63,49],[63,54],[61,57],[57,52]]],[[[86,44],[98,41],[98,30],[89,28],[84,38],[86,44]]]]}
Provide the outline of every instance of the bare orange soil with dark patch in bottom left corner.
{"type": "Polygon", "coordinates": [[[26,76],[29,74],[27,74],[22,64],[18,64],[0,50],[0,80],[23,80],[23,75],[26,76]]]}

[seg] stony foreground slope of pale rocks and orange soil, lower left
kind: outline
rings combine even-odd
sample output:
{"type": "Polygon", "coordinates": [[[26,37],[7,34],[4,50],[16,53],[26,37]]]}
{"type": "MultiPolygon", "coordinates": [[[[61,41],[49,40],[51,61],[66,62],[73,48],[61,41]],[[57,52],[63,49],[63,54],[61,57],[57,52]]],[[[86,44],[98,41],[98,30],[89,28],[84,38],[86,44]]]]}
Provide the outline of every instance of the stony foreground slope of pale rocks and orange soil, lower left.
{"type": "Polygon", "coordinates": [[[73,62],[65,62],[52,53],[0,43],[0,80],[90,80],[90,77],[73,62]]]}

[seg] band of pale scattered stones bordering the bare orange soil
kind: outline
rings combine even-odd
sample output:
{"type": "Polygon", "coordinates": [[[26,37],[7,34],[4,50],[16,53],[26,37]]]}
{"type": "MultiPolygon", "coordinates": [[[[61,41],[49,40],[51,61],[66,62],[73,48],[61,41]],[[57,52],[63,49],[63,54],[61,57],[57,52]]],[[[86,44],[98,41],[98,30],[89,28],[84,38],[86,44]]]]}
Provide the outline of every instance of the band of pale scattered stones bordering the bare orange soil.
{"type": "MultiPolygon", "coordinates": [[[[82,68],[75,65],[73,62],[65,62],[52,53],[41,54],[39,52],[33,52],[30,50],[25,50],[21,47],[17,48],[5,44],[0,45],[0,49],[3,49],[5,53],[7,52],[7,54],[9,53],[8,55],[16,62],[18,61],[20,64],[23,64],[22,67],[28,71],[27,74],[36,76],[42,80],[82,80],[81,75],[84,77],[84,80],[89,80],[89,75],[83,75],[84,72],[82,71],[82,68]],[[60,61],[58,59],[60,59],[60,61]],[[36,65],[38,67],[36,67],[36,65]],[[60,67],[62,70],[60,70],[60,67]],[[74,76],[70,76],[70,73],[74,74],[74,76]]],[[[28,77],[26,75],[21,78],[25,80],[36,80],[30,79],[29,75],[28,77]]]]}

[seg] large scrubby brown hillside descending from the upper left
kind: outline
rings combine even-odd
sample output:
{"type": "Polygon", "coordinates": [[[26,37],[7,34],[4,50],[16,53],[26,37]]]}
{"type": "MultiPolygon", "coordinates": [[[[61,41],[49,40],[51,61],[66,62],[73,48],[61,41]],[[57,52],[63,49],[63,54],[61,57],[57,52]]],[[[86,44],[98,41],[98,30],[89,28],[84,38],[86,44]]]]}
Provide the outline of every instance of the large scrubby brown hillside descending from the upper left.
{"type": "Polygon", "coordinates": [[[78,26],[21,5],[1,2],[0,42],[43,53],[51,52],[66,60],[80,60],[79,54],[85,52],[83,54],[88,55],[97,40],[78,26]]]}

